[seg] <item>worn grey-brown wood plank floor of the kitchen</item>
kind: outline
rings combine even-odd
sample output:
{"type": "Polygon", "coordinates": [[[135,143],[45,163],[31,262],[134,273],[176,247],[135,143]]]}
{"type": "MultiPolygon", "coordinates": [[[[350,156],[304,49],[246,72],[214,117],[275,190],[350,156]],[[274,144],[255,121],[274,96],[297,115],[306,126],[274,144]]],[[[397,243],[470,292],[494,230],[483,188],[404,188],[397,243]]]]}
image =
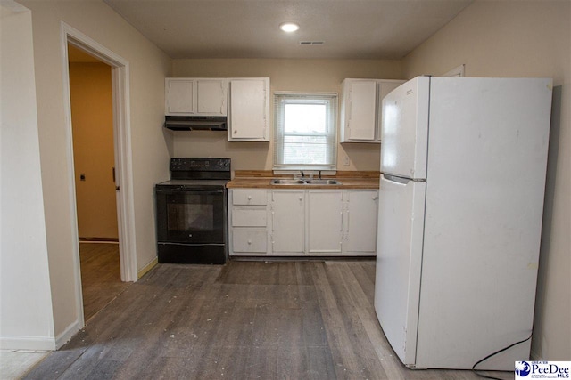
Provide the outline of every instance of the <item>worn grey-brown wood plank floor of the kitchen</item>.
{"type": "Polygon", "coordinates": [[[374,279],[373,261],[159,264],[24,378],[478,378],[404,368],[374,279]]]}

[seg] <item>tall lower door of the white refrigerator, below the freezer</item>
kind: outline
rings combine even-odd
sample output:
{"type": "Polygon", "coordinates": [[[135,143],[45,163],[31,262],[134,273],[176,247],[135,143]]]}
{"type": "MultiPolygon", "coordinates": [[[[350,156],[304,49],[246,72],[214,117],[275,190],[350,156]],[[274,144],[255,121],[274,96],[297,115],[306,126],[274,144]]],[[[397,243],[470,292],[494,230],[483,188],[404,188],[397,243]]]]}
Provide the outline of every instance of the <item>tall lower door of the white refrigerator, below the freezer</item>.
{"type": "Polygon", "coordinates": [[[402,363],[416,360],[425,182],[383,174],[379,189],[375,311],[402,363]]]}

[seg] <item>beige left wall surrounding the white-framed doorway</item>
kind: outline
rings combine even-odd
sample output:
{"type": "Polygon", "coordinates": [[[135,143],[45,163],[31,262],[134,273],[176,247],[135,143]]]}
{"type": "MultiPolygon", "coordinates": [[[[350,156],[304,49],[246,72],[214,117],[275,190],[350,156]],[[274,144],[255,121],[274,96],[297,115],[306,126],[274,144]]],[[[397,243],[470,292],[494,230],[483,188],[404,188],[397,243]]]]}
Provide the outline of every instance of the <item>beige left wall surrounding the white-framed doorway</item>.
{"type": "Polygon", "coordinates": [[[60,338],[80,328],[74,284],[73,186],[68,162],[62,77],[62,21],[128,61],[137,268],[156,257],[153,184],[169,177],[170,136],[162,133],[164,77],[170,59],[126,20],[100,1],[21,0],[32,11],[36,62],[39,150],[45,199],[47,251],[54,303],[54,330],[60,338]]]}

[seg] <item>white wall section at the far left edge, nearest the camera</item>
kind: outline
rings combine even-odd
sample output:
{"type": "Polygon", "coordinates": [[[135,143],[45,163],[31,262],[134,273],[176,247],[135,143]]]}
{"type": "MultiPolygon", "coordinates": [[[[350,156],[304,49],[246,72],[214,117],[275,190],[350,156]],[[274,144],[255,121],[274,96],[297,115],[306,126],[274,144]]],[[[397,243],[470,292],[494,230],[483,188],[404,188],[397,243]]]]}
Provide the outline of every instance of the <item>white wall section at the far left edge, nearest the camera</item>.
{"type": "Polygon", "coordinates": [[[53,350],[31,27],[0,3],[0,348],[53,350]]]}

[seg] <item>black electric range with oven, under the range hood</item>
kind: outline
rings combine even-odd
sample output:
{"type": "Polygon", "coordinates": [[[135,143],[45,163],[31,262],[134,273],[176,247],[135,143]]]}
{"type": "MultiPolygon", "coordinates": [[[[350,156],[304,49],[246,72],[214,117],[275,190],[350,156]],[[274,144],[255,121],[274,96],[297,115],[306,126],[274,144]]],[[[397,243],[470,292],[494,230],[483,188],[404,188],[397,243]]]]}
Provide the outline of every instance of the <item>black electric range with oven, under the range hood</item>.
{"type": "Polygon", "coordinates": [[[170,159],[170,181],[155,185],[159,263],[226,263],[230,164],[230,158],[170,159]]]}

